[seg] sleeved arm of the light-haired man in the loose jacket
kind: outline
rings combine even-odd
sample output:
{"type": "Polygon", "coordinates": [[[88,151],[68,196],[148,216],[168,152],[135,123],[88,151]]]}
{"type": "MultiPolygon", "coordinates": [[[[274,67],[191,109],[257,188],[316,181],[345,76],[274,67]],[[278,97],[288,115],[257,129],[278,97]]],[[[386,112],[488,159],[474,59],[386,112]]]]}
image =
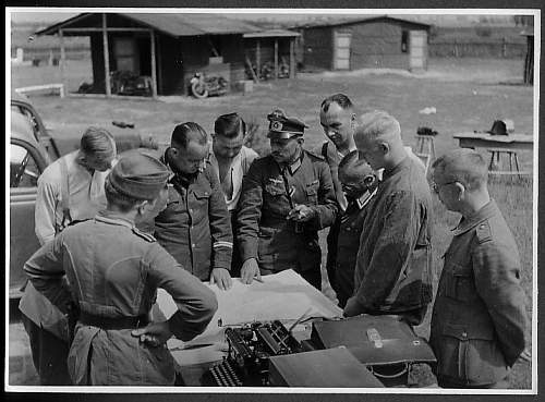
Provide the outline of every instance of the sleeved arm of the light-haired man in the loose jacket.
{"type": "MultiPolygon", "coordinates": [[[[407,267],[421,226],[420,206],[409,192],[392,193],[385,200],[382,231],[365,276],[344,307],[346,316],[376,310],[407,267]]],[[[375,218],[377,219],[377,218],[375,218]]],[[[358,265],[361,264],[356,261],[358,265]]]]}

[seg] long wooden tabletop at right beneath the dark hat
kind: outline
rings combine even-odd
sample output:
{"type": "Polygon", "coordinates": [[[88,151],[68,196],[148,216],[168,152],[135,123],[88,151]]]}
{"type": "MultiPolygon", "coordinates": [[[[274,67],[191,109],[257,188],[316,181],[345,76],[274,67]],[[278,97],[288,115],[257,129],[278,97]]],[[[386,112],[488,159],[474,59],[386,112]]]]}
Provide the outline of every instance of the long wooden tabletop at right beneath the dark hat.
{"type": "Polygon", "coordinates": [[[496,148],[506,150],[532,150],[534,136],[530,134],[492,135],[488,133],[459,133],[455,138],[461,148],[496,148]]]}

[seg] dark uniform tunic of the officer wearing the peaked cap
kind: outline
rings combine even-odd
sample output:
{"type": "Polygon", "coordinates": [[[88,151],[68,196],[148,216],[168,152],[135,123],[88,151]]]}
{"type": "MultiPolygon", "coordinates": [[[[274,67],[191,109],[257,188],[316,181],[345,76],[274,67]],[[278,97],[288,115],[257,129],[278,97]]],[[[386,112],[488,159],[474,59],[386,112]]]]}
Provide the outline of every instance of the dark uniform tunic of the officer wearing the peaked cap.
{"type": "Polygon", "coordinates": [[[317,231],[334,222],[337,209],[331,173],[322,158],[303,150],[283,176],[270,155],[256,159],[243,180],[239,200],[237,235],[242,260],[257,258],[259,268],[274,272],[289,268],[319,272],[317,231]],[[286,219],[298,204],[315,211],[310,221],[295,224],[286,219]]]}

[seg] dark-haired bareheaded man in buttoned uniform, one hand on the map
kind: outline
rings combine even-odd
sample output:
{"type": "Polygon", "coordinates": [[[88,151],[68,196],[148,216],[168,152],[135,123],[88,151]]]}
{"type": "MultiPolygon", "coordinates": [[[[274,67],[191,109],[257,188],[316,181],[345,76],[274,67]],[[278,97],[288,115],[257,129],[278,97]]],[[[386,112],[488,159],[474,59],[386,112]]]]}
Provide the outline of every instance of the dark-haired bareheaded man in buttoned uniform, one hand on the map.
{"type": "Polygon", "coordinates": [[[220,289],[232,284],[231,220],[217,174],[206,161],[206,132],[197,123],[179,124],[164,162],[169,180],[167,208],[155,218],[155,236],[177,261],[220,289]]]}

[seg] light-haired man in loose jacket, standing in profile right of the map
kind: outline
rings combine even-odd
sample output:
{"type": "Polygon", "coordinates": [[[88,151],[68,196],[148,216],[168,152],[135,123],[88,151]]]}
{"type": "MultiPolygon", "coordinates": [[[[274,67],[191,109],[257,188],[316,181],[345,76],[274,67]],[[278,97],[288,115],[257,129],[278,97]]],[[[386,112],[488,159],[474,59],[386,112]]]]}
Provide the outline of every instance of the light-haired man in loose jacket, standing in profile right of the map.
{"type": "Polygon", "coordinates": [[[432,301],[428,184],[403,147],[399,122],[387,112],[361,115],[354,139],[360,158],[384,173],[363,222],[344,315],[398,315],[419,325],[432,301]]]}

